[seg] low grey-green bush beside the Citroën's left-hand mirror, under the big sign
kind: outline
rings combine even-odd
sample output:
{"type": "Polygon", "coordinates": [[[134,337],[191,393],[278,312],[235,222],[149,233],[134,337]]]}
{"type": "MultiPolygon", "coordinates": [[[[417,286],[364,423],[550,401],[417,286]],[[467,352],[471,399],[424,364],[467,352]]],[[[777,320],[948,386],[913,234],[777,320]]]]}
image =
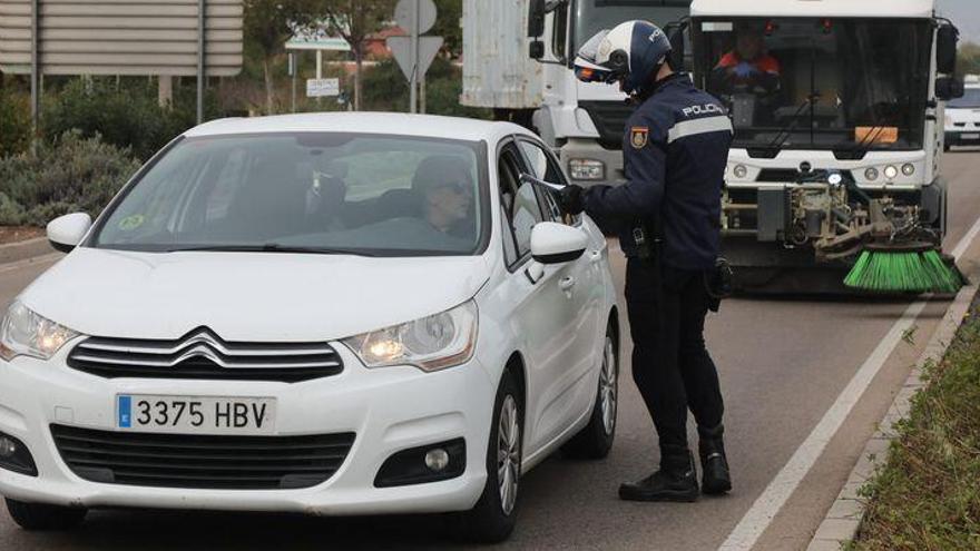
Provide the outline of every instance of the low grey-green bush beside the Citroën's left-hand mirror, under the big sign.
{"type": "Polygon", "coordinates": [[[2,158],[0,225],[43,226],[75,211],[96,216],[138,168],[128,149],[78,131],[41,144],[36,156],[2,158]]]}

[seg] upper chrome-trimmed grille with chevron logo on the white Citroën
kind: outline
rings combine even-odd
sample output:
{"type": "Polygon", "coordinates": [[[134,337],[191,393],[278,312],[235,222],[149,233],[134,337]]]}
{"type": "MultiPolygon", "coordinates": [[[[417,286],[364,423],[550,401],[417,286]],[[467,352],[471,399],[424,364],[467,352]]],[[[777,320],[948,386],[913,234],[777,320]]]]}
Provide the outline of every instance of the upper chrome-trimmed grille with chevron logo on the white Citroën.
{"type": "Polygon", "coordinates": [[[228,343],[207,328],[176,341],[89,337],[68,366],[107,378],[198,378],[298,383],[343,371],[326,343],[228,343]]]}

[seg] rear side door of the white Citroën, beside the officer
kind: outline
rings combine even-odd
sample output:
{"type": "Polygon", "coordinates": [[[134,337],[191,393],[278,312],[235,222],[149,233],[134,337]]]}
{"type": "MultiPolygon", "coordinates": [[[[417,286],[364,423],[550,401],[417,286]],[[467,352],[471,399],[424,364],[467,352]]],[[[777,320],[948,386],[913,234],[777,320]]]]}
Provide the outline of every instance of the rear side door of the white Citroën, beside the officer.
{"type": "MultiPolygon", "coordinates": [[[[521,137],[518,145],[532,176],[545,181],[566,185],[565,174],[553,155],[537,140],[521,137]]],[[[571,302],[572,317],[568,319],[567,335],[569,338],[569,363],[562,368],[568,373],[569,388],[562,392],[570,395],[576,411],[587,411],[595,396],[595,384],[598,376],[597,366],[605,341],[605,286],[602,285],[602,260],[605,259],[606,239],[594,225],[585,224],[582,216],[566,217],[558,206],[553,190],[537,189],[545,205],[547,220],[576,226],[589,234],[589,248],[586,254],[565,267],[565,277],[570,281],[566,298],[571,302]],[[596,376],[589,376],[596,375],[596,376]]],[[[566,283],[568,285],[568,283],[566,283]]]]}

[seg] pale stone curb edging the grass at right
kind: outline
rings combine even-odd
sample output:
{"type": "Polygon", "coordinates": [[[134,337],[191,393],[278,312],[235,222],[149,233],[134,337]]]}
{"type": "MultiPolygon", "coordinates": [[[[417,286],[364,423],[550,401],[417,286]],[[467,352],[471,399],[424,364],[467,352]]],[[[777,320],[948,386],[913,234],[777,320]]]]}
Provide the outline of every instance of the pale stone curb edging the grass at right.
{"type": "MultiPolygon", "coordinates": [[[[970,279],[976,281],[976,278],[970,279]]],[[[827,510],[806,551],[839,551],[857,537],[861,522],[864,520],[865,505],[864,500],[859,495],[859,490],[888,461],[889,445],[898,436],[895,424],[909,416],[912,397],[925,385],[922,381],[922,367],[928,362],[941,361],[945,355],[963,317],[970,311],[977,291],[978,285],[971,284],[957,293],[945,316],[939,322],[939,327],[915,362],[912,373],[909,374],[884,419],[879,423],[878,431],[861,451],[857,463],[847,476],[847,482],[827,510]]]]}

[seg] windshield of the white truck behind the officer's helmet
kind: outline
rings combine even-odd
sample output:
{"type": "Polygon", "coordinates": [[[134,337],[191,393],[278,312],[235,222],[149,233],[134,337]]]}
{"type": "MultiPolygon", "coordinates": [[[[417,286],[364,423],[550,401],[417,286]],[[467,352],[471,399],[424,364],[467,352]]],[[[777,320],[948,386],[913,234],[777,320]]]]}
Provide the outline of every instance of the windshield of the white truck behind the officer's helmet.
{"type": "Polygon", "coordinates": [[[611,29],[633,19],[646,19],[660,27],[690,14],[692,0],[571,0],[575,29],[570,51],[602,29],[611,29]]]}

